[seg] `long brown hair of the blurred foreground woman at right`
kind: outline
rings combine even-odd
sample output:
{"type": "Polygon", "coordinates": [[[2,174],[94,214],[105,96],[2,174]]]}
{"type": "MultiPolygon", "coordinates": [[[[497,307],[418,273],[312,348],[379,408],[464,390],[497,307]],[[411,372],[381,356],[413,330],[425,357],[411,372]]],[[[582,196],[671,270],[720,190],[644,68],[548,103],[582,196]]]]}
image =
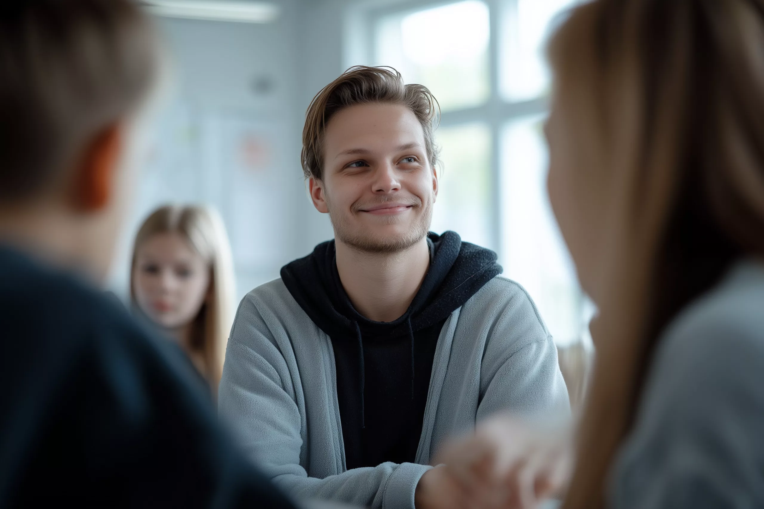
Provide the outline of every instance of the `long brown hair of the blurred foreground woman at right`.
{"type": "MultiPolygon", "coordinates": [[[[764,2],[596,0],[550,44],[556,100],[610,184],[597,361],[564,507],[603,507],[666,325],[764,257],[764,2]]],[[[762,310],[764,311],[764,310],[762,310]]]]}

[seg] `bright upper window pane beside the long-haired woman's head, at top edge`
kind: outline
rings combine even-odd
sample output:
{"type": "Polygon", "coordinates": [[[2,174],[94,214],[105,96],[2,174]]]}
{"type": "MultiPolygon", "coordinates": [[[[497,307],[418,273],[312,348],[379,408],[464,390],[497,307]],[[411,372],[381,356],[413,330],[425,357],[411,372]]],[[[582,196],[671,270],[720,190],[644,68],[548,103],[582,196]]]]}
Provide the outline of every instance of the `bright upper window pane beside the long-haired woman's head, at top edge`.
{"type": "Polygon", "coordinates": [[[578,0],[517,0],[508,2],[500,38],[501,94],[525,101],[549,89],[545,42],[556,21],[578,0]]]}

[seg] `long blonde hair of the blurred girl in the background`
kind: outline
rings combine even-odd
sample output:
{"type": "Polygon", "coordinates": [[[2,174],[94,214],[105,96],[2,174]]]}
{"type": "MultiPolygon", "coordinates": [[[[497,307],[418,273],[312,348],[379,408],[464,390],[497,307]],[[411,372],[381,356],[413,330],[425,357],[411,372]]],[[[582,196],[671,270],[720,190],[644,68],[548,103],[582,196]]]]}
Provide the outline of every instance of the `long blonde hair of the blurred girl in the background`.
{"type": "Polygon", "coordinates": [[[136,253],[150,237],[165,233],[183,236],[209,264],[209,298],[202,304],[193,322],[194,333],[190,347],[202,359],[199,368],[208,380],[213,395],[216,395],[233,320],[232,306],[235,298],[231,246],[225,225],[217,211],[200,206],[167,205],[147,217],[135,236],[133,246],[130,297],[134,308],[138,305],[132,276],[136,253]]]}

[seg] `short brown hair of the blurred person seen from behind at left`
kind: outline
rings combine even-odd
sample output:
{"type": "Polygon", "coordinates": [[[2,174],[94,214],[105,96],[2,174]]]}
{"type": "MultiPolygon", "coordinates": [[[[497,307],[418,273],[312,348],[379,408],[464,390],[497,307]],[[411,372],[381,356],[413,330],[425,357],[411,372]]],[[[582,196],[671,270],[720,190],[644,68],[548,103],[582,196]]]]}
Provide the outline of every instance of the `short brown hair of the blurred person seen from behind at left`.
{"type": "Polygon", "coordinates": [[[131,0],[0,6],[0,205],[60,182],[154,84],[157,39],[131,0]]]}

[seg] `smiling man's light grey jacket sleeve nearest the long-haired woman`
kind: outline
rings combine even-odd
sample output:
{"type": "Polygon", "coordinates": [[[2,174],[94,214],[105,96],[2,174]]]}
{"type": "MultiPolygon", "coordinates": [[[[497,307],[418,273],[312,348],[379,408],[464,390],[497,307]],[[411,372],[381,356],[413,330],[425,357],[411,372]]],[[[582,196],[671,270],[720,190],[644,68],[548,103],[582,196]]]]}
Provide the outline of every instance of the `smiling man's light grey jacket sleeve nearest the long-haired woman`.
{"type": "Polygon", "coordinates": [[[555,342],[527,292],[509,283],[516,291],[503,299],[487,333],[477,420],[501,411],[519,417],[568,418],[568,389],[555,342]]]}

